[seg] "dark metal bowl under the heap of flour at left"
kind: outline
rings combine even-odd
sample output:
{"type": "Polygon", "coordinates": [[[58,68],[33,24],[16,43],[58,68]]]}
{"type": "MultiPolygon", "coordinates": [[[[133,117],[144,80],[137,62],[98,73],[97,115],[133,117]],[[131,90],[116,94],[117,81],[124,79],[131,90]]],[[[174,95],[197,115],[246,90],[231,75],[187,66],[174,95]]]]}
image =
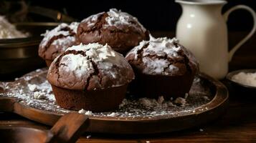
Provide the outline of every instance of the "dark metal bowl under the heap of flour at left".
{"type": "Polygon", "coordinates": [[[20,31],[28,32],[29,37],[0,39],[0,80],[10,80],[22,74],[45,66],[38,56],[40,34],[53,29],[60,23],[31,22],[15,24],[20,31]]]}

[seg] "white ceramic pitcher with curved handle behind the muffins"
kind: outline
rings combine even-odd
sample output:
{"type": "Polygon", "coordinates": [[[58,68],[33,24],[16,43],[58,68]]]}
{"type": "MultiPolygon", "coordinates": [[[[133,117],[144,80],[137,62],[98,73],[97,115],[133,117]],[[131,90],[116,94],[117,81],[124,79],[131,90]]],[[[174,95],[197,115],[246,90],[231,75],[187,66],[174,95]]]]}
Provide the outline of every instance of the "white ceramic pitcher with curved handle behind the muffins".
{"type": "Polygon", "coordinates": [[[223,0],[176,0],[181,4],[182,14],[176,26],[176,37],[189,49],[199,61],[200,71],[222,79],[228,72],[228,62],[242,44],[250,39],[256,30],[256,14],[250,7],[237,5],[222,15],[223,0]],[[228,52],[227,24],[229,14],[236,9],[250,11],[254,26],[250,34],[245,36],[228,52]]]}

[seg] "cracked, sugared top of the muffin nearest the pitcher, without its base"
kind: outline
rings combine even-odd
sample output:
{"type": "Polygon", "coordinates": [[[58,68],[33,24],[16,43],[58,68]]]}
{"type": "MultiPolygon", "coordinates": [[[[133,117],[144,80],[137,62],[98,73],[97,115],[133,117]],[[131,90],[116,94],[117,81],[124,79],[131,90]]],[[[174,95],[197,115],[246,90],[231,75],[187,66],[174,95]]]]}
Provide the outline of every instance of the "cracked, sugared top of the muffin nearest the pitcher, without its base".
{"type": "Polygon", "coordinates": [[[174,76],[198,70],[194,56],[176,38],[151,37],[150,41],[141,41],[125,58],[143,74],[174,76]]]}

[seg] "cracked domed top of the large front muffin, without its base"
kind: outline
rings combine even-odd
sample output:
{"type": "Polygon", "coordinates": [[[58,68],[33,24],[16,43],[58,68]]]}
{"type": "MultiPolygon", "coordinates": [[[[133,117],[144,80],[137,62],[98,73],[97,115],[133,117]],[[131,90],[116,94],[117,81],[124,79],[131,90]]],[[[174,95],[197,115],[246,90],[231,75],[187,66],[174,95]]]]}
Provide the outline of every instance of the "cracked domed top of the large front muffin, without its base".
{"type": "Polygon", "coordinates": [[[68,48],[49,66],[50,84],[65,89],[97,90],[120,87],[134,79],[125,58],[105,44],[80,44],[68,48]]]}

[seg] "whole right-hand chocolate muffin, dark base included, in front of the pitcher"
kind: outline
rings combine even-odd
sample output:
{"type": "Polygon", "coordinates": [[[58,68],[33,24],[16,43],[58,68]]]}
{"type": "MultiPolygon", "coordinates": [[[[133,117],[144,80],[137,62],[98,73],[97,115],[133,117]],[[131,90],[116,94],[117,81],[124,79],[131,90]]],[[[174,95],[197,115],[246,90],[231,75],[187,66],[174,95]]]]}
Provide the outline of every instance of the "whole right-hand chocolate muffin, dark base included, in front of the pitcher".
{"type": "Polygon", "coordinates": [[[141,41],[125,56],[136,73],[133,92],[145,97],[183,97],[189,92],[198,63],[177,39],[141,41]]]}

